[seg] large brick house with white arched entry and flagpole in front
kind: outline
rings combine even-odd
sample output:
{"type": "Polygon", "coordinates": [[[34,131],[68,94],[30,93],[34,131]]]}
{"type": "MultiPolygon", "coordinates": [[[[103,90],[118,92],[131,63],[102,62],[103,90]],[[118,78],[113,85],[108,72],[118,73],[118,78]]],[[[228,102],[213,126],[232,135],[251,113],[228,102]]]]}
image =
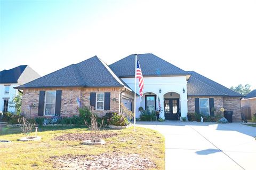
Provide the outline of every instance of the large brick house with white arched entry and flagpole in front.
{"type": "MultiPolygon", "coordinates": [[[[177,113],[203,112],[214,115],[211,108],[234,111],[234,121],[241,120],[239,99],[243,96],[194,71],[184,71],[154,54],[139,54],[145,87],[136,110],[158,110],[158,97],[165,119],[177,120],[177,113]]],[[[33,82],[16,87],[23,90],[22,111],[29,113],[29,104],[38,108],[37,116],[77,115],[77,107],[94,106],[99,114],[121,111],[121,102],[134,111],[134,55],[109,66],[94,56],[71,64],[33,82]]],[[[138,80],[137,80],[138,84],[138,80]]],[[[137,94],[139,89],[137,88],[137,94]]]]}

